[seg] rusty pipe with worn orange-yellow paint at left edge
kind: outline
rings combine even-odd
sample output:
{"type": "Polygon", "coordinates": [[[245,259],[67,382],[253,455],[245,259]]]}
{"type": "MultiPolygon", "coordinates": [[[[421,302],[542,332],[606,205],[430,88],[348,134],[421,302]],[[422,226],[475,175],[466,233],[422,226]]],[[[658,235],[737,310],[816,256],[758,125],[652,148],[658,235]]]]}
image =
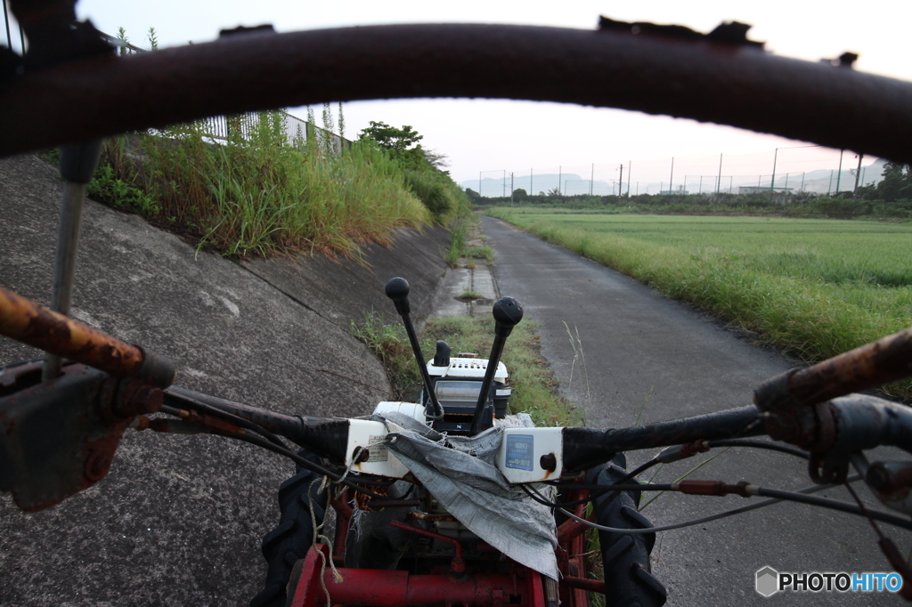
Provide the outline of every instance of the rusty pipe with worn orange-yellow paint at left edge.
{"type": "Polygon", "coordinates": [[[0,334],[105,371],[171,386],[174,363],[0,288],[0,334]]]}

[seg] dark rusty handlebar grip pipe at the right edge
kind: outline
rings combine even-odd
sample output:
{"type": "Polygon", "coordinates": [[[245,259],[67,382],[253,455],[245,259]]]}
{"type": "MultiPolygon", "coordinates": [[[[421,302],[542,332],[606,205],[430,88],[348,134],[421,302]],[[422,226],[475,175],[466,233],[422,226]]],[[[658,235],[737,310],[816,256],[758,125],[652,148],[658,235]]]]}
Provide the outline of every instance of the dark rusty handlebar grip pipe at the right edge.
{"type": "Polygon", "coordinates": [[[754,392],[762,411],[787,410],[882,386],[912,376],[912,329],[813,366],[772,377],[754,392]]]}

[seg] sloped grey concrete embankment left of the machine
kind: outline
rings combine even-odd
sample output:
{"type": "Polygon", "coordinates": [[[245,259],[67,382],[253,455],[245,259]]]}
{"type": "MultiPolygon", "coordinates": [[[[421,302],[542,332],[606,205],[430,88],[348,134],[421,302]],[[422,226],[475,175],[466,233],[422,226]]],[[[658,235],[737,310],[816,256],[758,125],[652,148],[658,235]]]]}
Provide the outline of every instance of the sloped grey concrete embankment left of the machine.
{"type": "MultiPolygon", "coordinates": [[[[57,171],[0,159],[0,286],[50,294],[57,171]]],[[[354,416],[389,396],[383,369],[348,334],[394,316],[391,276],[430,312],[445,273],[440,228],[400,231],[349,260],[234,262],[88,201],[72,315],[171,356],[178,385],[285,413],[354,416]]],[[[0,365],[37,351],[0,338],[0,365]]],[[[234,605],[261,588],[259,544],[278,520],[285,459],[211,436],[129,432],[108,478],[37,514],[0,495],[0,604],[234,605]]]]}

